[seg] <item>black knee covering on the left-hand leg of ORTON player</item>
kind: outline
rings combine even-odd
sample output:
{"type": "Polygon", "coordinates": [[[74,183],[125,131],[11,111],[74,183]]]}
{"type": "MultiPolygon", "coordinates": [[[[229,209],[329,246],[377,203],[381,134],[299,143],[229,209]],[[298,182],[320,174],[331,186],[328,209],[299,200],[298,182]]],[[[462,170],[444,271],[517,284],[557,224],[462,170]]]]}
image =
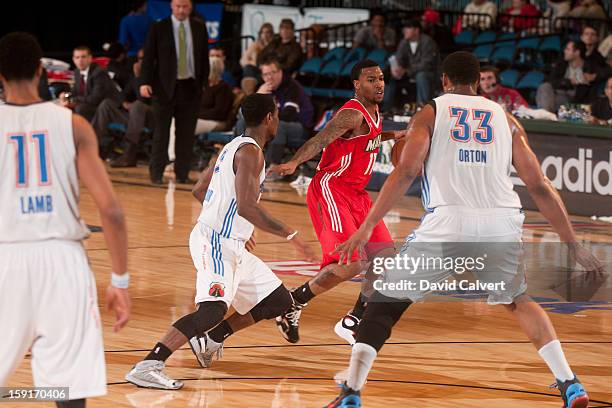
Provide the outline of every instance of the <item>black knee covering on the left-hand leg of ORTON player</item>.
{"type": "Polygon", "coordinates": [[[369,344],[380,351],[391,336],[391,329],[411,303],[371,299],[357,328],[357,343],[369,344]]]}

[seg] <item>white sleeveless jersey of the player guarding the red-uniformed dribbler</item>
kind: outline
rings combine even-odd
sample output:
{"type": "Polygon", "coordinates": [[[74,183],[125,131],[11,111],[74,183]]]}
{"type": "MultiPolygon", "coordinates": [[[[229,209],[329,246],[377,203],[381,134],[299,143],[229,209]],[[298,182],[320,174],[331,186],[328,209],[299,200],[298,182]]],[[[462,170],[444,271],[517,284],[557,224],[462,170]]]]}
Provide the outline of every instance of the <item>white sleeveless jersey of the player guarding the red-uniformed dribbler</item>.
{"type": "MultiPolygon", "coordinates": [[[[250,137],[240,136],[225,145],[217,161],[208,191],[204,196],[202,212],[198,222],[207,225],[225,238],[247,241],[255,227],[237,214],[236,175],[234,174],[234,155],[245,143],[260,147],[250,137]]],[[[259,174],[259,184],[263,188],[266,178],[265,164],[259,174]]]]}

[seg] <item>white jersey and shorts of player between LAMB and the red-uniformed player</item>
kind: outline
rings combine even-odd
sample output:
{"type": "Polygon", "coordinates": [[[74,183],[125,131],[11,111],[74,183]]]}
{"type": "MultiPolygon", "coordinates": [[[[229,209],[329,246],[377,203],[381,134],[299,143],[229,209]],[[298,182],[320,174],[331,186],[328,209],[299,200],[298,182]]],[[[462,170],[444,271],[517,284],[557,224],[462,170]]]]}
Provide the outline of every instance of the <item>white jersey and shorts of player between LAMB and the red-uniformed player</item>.
{"type": "MultiPolygon", "coordinates": [[[[245,144],[240,136],[225,145],[215,163],[189,249],[198,271],[195,302],[223,301],[246,314],[282,282],[259,258],[245,249],[255,227],[238,214],[234,156],[245,144]]],[[[258,146],[259,147],[259,146],[258,146]]],[[[259,174],[263,186],[265,165],[259,174]]]]}

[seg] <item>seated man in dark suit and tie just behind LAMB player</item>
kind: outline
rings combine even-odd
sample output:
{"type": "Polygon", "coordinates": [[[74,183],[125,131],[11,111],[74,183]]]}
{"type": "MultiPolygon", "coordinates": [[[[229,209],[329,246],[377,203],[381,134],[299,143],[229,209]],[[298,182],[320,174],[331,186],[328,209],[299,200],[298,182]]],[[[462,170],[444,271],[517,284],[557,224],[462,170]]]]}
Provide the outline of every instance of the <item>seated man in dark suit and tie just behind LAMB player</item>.
{"type": "Polygon", "coordinates": [[[81,45],[72,52],[74,86],[72,95],[60,94],[63,106],[74,108],[74,111],[91,121],[96,109],[106,98],[116,99],[119,91],[105,69],[91,62],[91,50],[81,45]]]}

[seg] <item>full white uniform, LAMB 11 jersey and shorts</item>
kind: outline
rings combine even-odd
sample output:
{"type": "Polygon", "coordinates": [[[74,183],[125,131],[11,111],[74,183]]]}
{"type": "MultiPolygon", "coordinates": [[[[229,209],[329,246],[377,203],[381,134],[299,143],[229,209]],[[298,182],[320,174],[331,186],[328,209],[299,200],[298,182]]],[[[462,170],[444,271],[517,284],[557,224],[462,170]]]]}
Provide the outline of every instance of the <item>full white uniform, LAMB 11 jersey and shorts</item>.
{"type": "Polygon", "coordinates": [[[96,283],[81,241],[72,112],[0,106],[0,386],[32,348],[37,387],[106,394],[96,283]]]}

